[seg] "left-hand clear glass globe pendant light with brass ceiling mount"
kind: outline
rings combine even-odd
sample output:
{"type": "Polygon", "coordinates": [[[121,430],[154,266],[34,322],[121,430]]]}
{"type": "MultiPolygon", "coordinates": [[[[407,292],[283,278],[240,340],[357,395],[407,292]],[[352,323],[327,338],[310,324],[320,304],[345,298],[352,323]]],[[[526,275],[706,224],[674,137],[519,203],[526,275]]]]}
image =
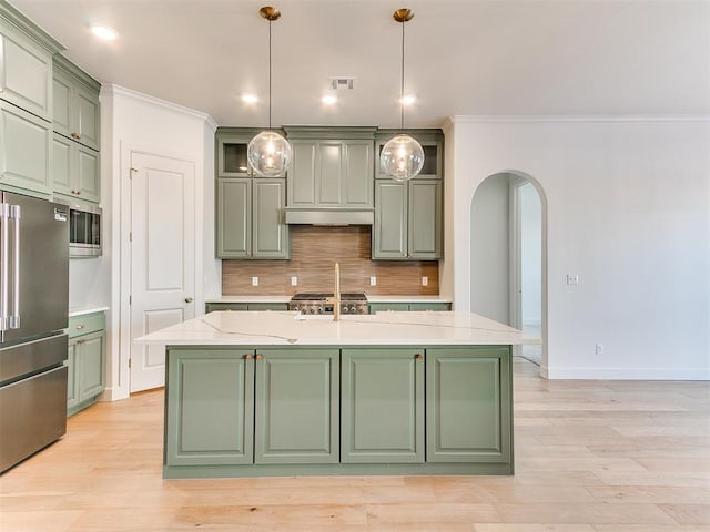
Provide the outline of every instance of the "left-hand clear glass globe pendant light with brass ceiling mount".
{"type": "Polygon", "coordinates": [[[285,175],[293,157],[288,141],[271,129],[271,23],[278,20],[281,11],[265,6],[258,14],[268,20],[268,129],[250,141],[246,157],[255,175],[276,177],[285,175]]]}

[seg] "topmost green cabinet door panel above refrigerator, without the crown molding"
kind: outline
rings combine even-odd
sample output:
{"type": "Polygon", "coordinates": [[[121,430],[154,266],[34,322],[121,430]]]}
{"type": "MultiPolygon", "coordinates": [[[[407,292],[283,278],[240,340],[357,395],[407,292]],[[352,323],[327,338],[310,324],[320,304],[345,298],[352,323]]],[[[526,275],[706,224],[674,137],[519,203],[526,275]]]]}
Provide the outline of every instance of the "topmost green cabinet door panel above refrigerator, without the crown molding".
{"type": "Polygon", "coordinates": [[[52,54],[3,24],[0,34],[0,98],[52,120],[52,54]]]}

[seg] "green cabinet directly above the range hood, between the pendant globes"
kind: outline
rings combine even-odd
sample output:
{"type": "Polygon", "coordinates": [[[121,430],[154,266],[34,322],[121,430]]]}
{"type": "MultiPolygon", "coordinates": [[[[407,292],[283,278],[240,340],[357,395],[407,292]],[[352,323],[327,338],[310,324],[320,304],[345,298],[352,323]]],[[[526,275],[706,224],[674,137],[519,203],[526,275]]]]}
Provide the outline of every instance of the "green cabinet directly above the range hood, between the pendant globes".
{"type": "Polygon", "coordinates": [[[285,127],[288,209],[372,209],[374,127],[285,127]]]}

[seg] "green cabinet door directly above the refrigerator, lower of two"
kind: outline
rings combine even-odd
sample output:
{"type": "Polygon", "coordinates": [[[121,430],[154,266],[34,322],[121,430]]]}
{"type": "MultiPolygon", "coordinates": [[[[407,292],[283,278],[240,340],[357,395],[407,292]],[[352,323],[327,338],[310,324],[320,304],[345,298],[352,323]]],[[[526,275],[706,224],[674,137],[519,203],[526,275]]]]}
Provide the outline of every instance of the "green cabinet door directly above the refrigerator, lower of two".
{"type": "Polygon", "coordinates": [[[52,124],[0,100],[0,187],[49,197],[52,124]]]}

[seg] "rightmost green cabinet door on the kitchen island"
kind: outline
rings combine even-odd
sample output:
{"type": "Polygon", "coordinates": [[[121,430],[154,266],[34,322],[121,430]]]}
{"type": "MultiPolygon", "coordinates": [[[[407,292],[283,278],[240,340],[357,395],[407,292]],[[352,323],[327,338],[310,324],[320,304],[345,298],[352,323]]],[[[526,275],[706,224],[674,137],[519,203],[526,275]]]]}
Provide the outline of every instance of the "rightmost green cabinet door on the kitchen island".
{"type": "Polygon", "coordinates": [[[426,350],[426,461],[513,459],[508,346],[426,350]]]}

